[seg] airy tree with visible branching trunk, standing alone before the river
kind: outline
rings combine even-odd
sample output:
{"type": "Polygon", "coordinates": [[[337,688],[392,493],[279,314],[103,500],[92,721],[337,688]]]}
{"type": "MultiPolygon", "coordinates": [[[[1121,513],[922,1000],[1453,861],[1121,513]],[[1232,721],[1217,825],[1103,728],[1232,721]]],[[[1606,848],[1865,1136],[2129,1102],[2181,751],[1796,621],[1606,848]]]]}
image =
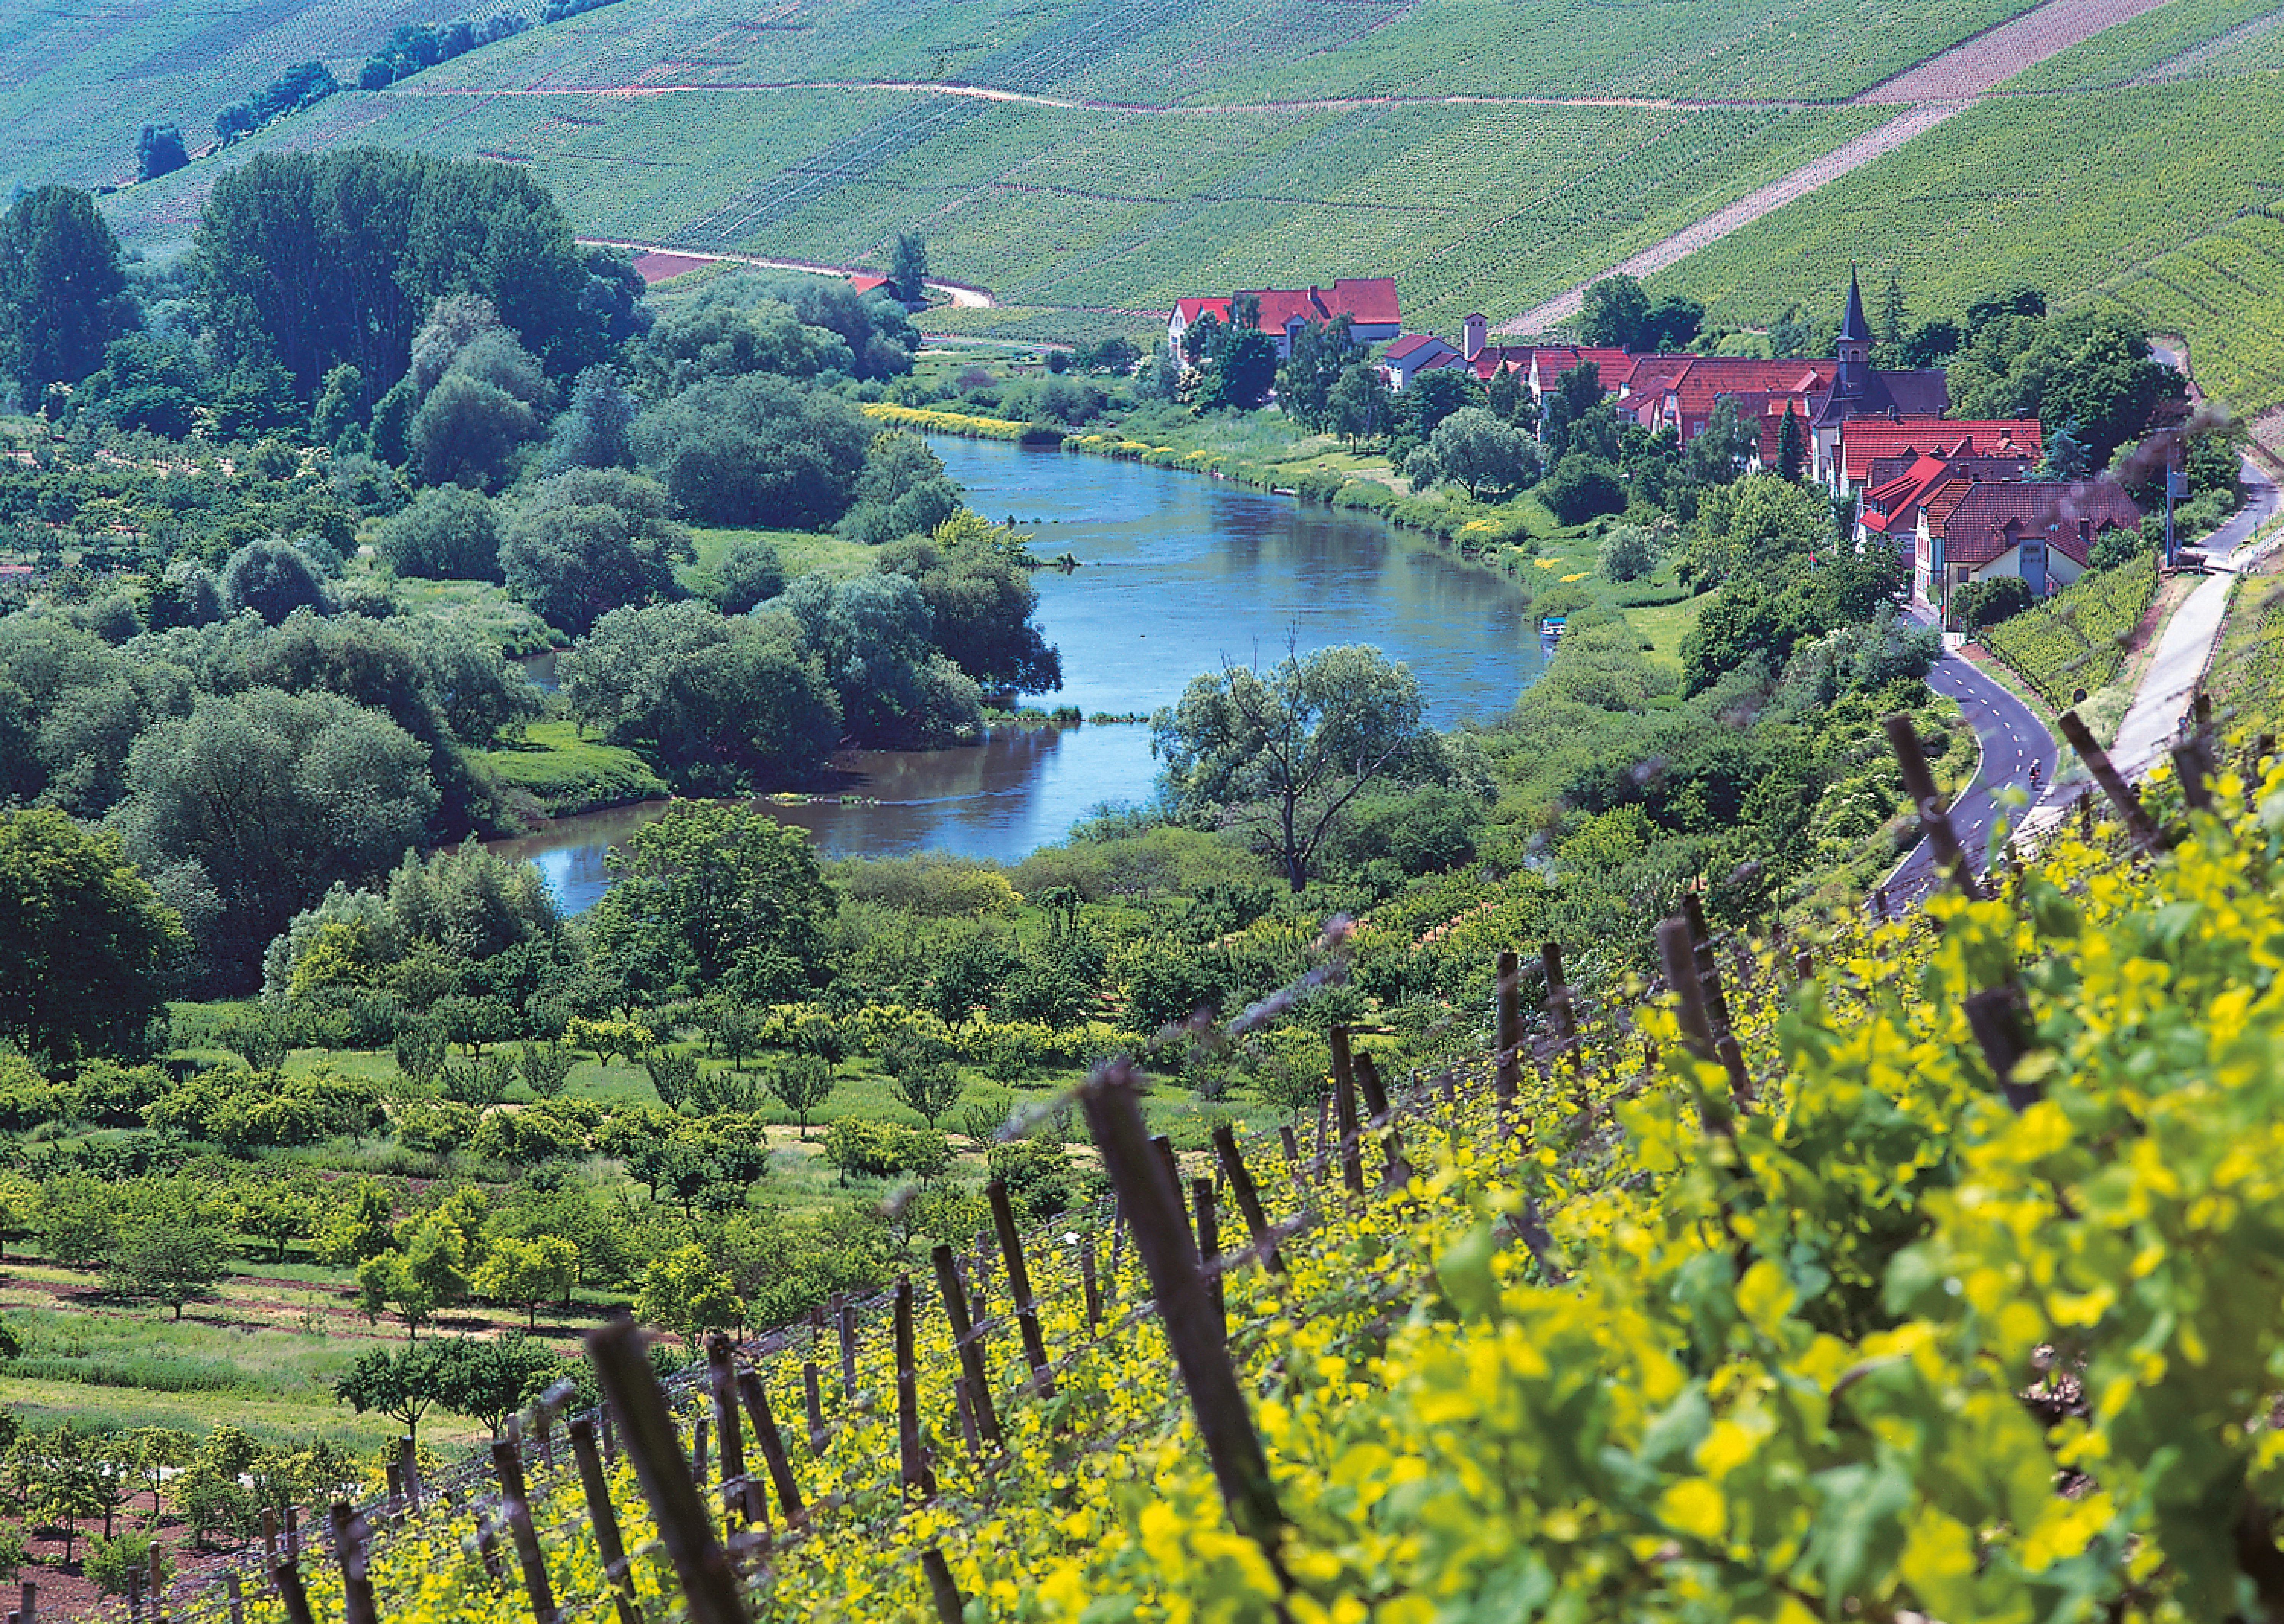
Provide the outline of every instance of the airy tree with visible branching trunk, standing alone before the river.
{"type": "Polygon", "coordinates": [[[1412,669],[1345,644],[1288,646],[1268,672],[1222,667],[1151,717],[1151,751],[1188,813],[1227,809],[1293,891],[1348,804],[1370,783],[1443,777],[1412,669]]]}

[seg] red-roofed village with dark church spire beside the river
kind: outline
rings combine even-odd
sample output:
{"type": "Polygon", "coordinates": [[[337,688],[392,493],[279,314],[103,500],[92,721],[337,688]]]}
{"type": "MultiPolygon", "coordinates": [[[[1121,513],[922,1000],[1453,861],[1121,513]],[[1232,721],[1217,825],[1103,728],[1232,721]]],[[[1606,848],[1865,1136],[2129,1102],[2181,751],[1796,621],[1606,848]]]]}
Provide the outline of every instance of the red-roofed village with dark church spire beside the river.
{"type": "Polygon", "coordinates": [[[1784,468],[1852,500],[1857,546],[1889,546],[1909,560],[1914,605],[1948,630],[1962,624],[1969,582],[2017,578],[2033,598],[2051,596],[2092,566],[2104,534],[2142,523],[2117,484],[2046,471],[2037,418],[1953,418],[1941,368],[1875,368],[1855,276],[1829,356],[1498,345],[1482,313],[1464,317],[1453,345],[1405,331],[1391,276],[1181,299],[1167,315],[1167,345],[1179,352],[1201,320],[1229,324],[1254,308],[1279,356],[1290,356],[1304,327],[1345,317],[1352,345],[1377,347],[1377,372],[1396,395],[1423,377],[1459,372],[1480,384],[1512,377],[1542,402],[1567,372],[1592,368],[1622,423],[1672,432],[1679,445],[1706,432],[1720,402],[1731,402],[1736,418],[1759,432],[1747,471],[1784,468]],[[1791,455],[1788,436],[1798,448],[1791,455]]]}

